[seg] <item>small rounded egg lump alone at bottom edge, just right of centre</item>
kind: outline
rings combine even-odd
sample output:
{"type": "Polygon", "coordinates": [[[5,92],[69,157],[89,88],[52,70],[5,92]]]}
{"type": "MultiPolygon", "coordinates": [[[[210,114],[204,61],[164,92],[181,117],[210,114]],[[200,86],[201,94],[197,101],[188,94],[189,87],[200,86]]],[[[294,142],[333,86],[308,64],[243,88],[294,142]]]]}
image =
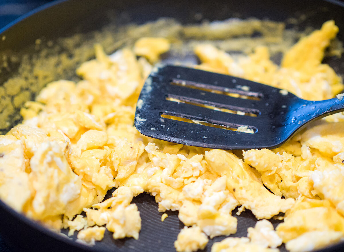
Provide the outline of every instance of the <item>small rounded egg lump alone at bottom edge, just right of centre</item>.
{"type": "Polygon", "coordinates": [[[204,249],[207,243],[208,238],[199,227],[184,227],[178,234],[174,247],[178,252],[192,252],[204,249]]]}

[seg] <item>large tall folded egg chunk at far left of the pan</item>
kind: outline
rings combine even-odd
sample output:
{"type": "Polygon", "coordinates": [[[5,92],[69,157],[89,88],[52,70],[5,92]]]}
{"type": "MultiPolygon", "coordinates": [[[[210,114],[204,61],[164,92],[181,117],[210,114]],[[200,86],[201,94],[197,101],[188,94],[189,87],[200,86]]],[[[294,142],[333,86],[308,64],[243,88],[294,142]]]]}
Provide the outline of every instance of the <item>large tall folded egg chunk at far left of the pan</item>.
{"type": "Polygon", "coordinates": [[[9,135],[22,141],[24,151],[31,156],[28,189],[33,195],[26,209],[28,216],[39,220],[60,214],[72,218],[79,213],[81,209],[74,202],[80,197],[82,181],[67,161],[63,136],[48,136],[26,125],[11,129],[9,135]]]}

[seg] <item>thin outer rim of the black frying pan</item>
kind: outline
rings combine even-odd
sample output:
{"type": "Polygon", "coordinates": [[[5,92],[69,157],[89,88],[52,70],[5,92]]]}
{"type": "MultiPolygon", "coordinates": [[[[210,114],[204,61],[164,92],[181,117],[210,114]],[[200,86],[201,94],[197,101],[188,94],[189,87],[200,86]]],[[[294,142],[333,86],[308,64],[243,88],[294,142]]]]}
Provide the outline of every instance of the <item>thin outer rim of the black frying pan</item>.
{"type": "MultiPolygon", "coordinates": [[[[42,4],[41,6],[21,15],[20,17],[14,19],[13,21],[11,21],[7,25],[5,25],[3,28],[1,28],[0,29],[0,37],[2,36],[2,34],[4,32],[8,31],[9,29],[11,29],[12,27],[14,27],[17,24],[20,24],[21,21],[23,21],[23,20],[41,12],[41,11],[44,11],[48,8],[51,8],[53,6],[57,6],[58,4],[62,4],[65,2],[71,2],[71,1],[75,1],[75,0],[53,0],[51,2],[42,4]]],[[[340,0],[321,0],[321,1],[331,3],[335,6],[338,6],[338,7],[341,7],[344,9],[344,2],[342,2],[340,0]]],[[[49,228],[45,227],[44,225],[38,223],[37,221],[30,219],[29,217],[25,216],[25,214],[14,210],[12,207],[10,207],[7,203],[5,203],[1,199],[0,199],[0,210],[7,211],[14,218],[20,220],[21,222],[30,226],[31,228],[36,229],[37,231],[41,232],[42,234],[48,235],[49,237],[51,237],[57,241],[64,242],[65,244],[71,246],[71,249],[76,248],[76,249],[84,250],[87,252],[104,252],[103,249],[100,249],[96,246],[93,247],[93,246],[88,246],[88,245],[85,245],[82,243],[78,243],[72,239],[64,237],[64,236],[50,230],[49,228]]],[[[340,249],[343,249],[343,248],[344,248],[344,241],[341,241],[339,243],[326,246],[322,249],[314,250],[313,252],[334,252],[334,251],[340,251],[340,249]]],[[[116,249],[116,250],[118,250],[118,249],[116,249]]]]}

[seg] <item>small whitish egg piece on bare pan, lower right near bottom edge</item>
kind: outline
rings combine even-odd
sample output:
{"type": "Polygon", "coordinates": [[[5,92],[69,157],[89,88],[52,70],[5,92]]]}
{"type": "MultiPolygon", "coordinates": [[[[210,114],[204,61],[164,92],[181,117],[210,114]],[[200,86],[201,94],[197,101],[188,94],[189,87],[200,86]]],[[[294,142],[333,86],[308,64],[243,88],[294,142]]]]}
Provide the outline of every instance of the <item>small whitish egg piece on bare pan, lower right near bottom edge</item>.
{"type": "Polygon", "coordinates": [[[256,243],[265,248],[277,248],[282,244],[282,239],[277,235],[270,221],[257,221],[254,228],[247,229],[247,237],[252,243],[256,243]]]}

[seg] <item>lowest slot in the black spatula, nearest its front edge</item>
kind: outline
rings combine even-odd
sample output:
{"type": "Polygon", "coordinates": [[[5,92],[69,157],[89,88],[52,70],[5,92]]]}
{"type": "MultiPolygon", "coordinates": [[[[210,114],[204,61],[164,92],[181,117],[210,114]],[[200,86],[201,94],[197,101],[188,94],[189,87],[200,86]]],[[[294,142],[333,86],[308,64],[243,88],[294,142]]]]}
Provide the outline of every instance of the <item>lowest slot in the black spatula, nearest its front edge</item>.
{"type": "Polygon", "coordinates": [[[163,113],[161,114],[162,118],[172,119],[176,121],[182,121],[186,123],[192,123],[192,124],[198,124],[213,128],[221,128],[226,130],[233,130],[243,133],[249,133],[254,134],[257,132],[257,128],[248,126],[248,125],[236,125],[236,124],[230,124],[230,123],[224,123],[224,122],[206,122],[204,120],[201,120],[201,118],[190,116],[190,115],[176,115],[174,113],[163,113]]]}

